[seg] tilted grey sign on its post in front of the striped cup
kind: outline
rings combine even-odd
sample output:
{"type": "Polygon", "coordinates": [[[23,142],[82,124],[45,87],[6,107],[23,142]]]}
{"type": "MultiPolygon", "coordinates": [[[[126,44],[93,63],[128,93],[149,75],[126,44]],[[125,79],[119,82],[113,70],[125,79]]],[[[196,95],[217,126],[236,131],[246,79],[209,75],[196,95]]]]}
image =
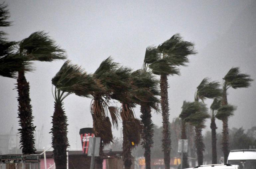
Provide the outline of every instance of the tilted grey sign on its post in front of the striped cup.
{"type": "Polygon", "coordinates": [[[91,156],[90,169],[93,169],[94,157],[99,156],[99,147],[100,147],[100,137],[89,138],[88,156],[91,156]]]}

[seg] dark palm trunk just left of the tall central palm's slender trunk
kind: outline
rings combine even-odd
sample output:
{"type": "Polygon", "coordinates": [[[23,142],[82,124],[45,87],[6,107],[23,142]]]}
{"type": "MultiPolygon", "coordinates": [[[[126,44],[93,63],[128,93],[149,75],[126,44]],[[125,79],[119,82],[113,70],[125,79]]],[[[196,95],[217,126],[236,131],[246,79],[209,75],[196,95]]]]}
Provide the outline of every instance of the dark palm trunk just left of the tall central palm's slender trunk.
{"type": "Polygon", "coordinates": [[[150,169],[150,148],[153,147],[153,136],[154,136],[154,124],[151,120],[151,108],[148,105],[141,105],[141,122],[143,123],[143,130],[142,130],[142,146],[145,149],[144,157],[146,162],[146,169],[150,169]]]}

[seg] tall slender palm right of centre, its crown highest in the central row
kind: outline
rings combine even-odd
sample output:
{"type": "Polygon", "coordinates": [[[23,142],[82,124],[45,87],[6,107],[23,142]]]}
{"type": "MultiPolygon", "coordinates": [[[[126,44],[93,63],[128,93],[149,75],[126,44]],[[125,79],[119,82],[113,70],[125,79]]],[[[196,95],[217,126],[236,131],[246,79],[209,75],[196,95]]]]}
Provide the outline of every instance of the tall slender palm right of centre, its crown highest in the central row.
{"type": "Polygon", "coordinates": [[[184,41],[179,34],[173,35],[170,39],[158,47],[148,47],[149,55],[146,55],[144,62],[149,64],[154,74],[160,75],[161,109],[163,117],[163,139],[162,148],[164,151],[165,169],[170,168],[171,137],[169,126],[169,103],[168,103],[168,82],[167,76],[180,74],[178,66],[185,66],[189,62],[188,56],[194,55],[194,44],[184,41]]]}

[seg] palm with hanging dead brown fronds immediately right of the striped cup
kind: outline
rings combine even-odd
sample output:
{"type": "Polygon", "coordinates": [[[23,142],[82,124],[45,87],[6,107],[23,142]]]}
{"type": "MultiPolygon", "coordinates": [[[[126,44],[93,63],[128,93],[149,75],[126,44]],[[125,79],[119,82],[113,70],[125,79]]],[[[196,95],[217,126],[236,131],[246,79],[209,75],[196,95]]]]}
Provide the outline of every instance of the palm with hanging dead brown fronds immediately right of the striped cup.
{"type": "Polygon", "coordinates": [[[102,166],[104,145],[113,140],[108,112],[113,126],[117,127],[118,124],[118,108],[109,106],[110,96],[116,91],[121,94],[122,90],[127,88],[130,71],[130,68],[119,67],[118,63],[113,62],[113,59],[109,57],[100,64],[93,74],[93,78],[99,86],[98,90],[94,90],[92,93],[91,103],[93,130],[95,136],[101,138],[100,156],[96,158],[96,165],[99,167],[102,166]]]}

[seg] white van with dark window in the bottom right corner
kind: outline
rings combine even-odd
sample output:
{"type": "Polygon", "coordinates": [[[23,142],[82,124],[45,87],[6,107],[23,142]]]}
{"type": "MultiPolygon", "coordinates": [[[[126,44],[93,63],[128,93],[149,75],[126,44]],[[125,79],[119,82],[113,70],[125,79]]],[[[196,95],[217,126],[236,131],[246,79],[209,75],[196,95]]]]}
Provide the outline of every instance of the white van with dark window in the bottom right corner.
{"type": "Polygon", "coordinates": [[[256,169],[256,149],[231,150],[227,163],[239,165],[240,169],[256,169]]]}

